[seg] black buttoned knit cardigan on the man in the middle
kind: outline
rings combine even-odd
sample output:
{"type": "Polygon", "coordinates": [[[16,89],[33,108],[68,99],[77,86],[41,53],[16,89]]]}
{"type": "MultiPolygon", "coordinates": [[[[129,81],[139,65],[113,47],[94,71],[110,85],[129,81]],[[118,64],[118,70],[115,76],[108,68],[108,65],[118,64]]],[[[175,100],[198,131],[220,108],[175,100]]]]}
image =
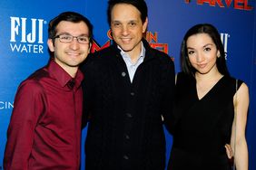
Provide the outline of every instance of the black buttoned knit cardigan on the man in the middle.
{"type": "Polygon", "coordinates": [[[165,125],[172,125],[174,66],[150,47],[131,83],[116,44],[95,52],[84,64],[86,170],[163,170],[165,125]]]}

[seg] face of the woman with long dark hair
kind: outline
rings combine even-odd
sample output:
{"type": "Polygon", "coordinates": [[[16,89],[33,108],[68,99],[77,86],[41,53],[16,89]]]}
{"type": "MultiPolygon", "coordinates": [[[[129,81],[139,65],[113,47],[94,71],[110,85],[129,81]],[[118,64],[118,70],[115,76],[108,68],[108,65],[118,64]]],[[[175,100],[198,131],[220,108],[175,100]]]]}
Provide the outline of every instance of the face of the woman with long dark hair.
{"type": "Polygon", "coordinates": [[[220,52],[207,33],[197,33],[190,36],[187,40],[187,53],[196,73],[219,72],[216,60],[217,56],[220,56],[220,52]]]}

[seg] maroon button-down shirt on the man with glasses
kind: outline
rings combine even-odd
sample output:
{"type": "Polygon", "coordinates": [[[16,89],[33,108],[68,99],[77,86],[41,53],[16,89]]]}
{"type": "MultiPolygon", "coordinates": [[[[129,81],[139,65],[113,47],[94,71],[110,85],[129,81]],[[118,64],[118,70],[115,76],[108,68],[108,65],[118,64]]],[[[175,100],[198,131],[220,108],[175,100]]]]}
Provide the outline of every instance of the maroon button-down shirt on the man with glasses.
{"type": "Polygon", "coordinates": [[[7,131],[5,170],[79,169],[83,78],[78,71],[72,79],[50,61],[21,83],[7,131]]]}

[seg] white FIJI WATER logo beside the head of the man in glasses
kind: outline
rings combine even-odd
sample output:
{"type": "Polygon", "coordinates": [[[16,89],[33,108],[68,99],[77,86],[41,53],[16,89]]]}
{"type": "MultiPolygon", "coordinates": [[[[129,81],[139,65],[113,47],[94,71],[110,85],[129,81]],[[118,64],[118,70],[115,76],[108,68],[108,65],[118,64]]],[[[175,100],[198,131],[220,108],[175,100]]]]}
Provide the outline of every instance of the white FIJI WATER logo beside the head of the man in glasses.
{"type": "Polygon", "coordinates": [[[10,48],[12,52],[44,53],[44,19],[11,16],[10,48]]]}

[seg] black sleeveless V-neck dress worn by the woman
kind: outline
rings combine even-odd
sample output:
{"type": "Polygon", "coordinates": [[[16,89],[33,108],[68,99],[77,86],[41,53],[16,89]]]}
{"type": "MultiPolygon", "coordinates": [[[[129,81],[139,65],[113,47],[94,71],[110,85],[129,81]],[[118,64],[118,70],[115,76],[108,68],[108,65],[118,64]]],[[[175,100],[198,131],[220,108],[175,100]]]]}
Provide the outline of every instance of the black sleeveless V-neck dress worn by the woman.
{"type": "MultiPolygon", "coordinates": [[[[238,81],[238,88],[242,81],[238,81]]],[[[168,170],[230,170],[225,144],[231,140],[236,80],[223,76],[202,99],[196,80],[179,73],[175,125],[168,170]]]]}

